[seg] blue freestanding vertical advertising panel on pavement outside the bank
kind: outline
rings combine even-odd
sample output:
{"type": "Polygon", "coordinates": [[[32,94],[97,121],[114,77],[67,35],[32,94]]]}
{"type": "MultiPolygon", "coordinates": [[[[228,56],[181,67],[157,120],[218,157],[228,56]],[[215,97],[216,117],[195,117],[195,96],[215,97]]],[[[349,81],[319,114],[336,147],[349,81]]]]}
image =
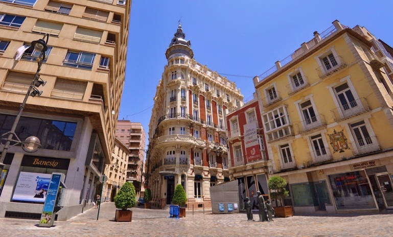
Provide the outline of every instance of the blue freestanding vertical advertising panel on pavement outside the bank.
{"type": "Polygon", "coordinates": [[[39,227],[51,227],[53,220],[53,210],[55,208],[56,198],[59,191],[60,181],[61,181],[60,173],[53,173],[51,182],[49,183],[47,199],[45,199],[45,203],[43,204],[41,219],[39,222],[39,227]]]}

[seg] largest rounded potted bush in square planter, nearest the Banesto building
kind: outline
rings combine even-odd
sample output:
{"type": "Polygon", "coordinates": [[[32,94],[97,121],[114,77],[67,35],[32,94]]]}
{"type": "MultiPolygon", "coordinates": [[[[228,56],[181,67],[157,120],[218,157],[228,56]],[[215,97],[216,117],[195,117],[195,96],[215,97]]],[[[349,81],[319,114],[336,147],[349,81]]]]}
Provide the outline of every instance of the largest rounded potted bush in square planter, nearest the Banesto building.
{"type": "Polygon", "coordinates": [[[114,197],[114,205],[116,208],[116,214],[114,221],[128,221],[131,222],[132,211],[128,210],[135,205],[136,195],[135,187],[131,182],[126,182],[121,188],[119,193],[114,197]]]}

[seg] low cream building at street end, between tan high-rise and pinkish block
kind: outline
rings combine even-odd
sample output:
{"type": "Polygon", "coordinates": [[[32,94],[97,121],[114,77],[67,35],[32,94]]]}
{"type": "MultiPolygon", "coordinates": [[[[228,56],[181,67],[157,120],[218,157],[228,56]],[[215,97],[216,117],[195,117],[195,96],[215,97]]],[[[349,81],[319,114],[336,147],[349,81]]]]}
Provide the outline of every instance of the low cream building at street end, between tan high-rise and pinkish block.
{"type": "Polygon", "coordinates": [[[114,147],[110,164],[105,165],[104,174],[108,181],[104,183],[102,200],[113,202],[114,196],[127,181],[127,165],[130,150],[118,138],[114,138],[114,147]]]}

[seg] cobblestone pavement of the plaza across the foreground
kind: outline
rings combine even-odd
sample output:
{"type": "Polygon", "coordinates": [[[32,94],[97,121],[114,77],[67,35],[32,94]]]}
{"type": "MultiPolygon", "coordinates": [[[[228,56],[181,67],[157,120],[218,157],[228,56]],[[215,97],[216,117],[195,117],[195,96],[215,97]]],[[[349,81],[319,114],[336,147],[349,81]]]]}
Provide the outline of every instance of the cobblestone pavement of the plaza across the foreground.
{"type": "MultiPolygon", "coordinates": [[[[0,219],[0,236],[393,236],[393,213],[294,216],[274,222],[245,221],[246,214],[212,215],[187,211],[186,218],[168,218],[169,210],[132,208],[132,222],[114,222],[113,203],[54,227],[40,228],[38,220],[0,219]]],[[[254,213],[258,219],[258,213],[254,213]]]]}

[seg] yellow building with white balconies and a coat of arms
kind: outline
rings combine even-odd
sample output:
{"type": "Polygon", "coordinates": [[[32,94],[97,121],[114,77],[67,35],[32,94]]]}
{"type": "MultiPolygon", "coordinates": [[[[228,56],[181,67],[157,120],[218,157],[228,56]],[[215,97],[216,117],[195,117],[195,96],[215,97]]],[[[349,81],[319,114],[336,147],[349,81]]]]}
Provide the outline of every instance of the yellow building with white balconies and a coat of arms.
{"type": "Polygon", "coordinates": [[[296,213],[393,207],[391,62],[364,27],[335,20],[254,79],[270,176],[288,181],[296,213]]]}

